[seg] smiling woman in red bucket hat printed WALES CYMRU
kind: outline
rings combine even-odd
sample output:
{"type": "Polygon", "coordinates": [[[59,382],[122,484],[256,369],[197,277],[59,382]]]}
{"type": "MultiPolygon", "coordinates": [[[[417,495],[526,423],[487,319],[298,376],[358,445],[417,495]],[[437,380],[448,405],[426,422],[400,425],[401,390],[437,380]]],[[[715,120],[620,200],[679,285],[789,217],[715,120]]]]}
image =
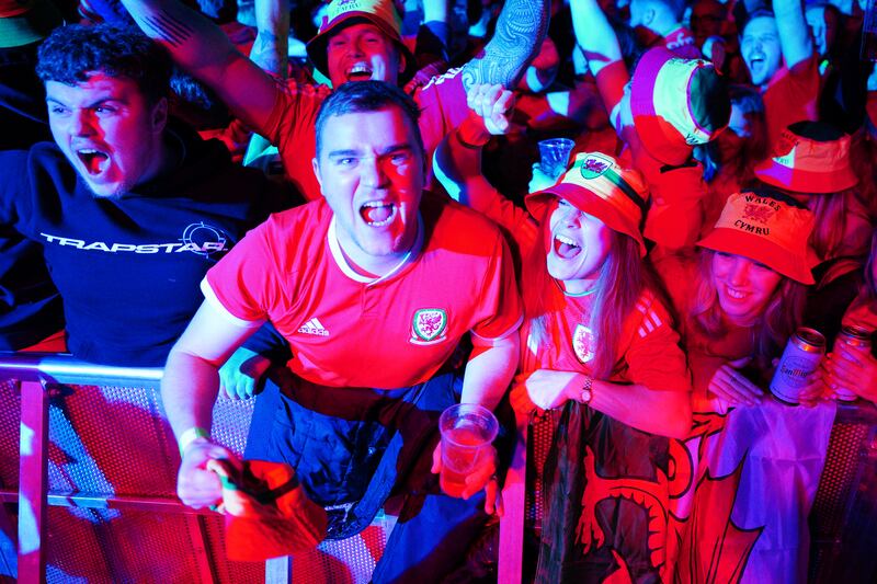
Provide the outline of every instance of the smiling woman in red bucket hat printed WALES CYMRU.
{"type": "MultiPolygon", "coordinates": [[[[728,197],[699,252],[656,262],[681,318],[695,411],[761,400],[759,386],[801,323],[813,284],[812,227],[812,214],[794,199],[743,191],[728,197]]],[[[817,376],[810,382],[816,396],[817,376]]]]}

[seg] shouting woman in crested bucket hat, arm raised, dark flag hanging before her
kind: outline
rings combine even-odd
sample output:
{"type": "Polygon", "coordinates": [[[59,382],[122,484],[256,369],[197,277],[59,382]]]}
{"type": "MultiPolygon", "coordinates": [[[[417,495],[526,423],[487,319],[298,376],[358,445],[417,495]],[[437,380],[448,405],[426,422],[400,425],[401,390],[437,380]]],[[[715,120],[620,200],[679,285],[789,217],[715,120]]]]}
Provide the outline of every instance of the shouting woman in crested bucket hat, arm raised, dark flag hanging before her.
{"type": "Polygon", "coordinates": [[[658,505],[667,517],[665,436],[691,427],[685,357],[641,261],[646,184],[611,156],[580,153],[557,184],[526,197],[525,211],[480,175],[482,141],[465,124],[435,165],[449,192],[519,248],[525,322],[512,405],[525,415],[559,409],[547,414],[556,428],[536,581],[600,580],[619,558],[634,579],[659,579],[667,526],[647,519],[645,502],[595,504],[600,468],[622,489],[648,483],[649,512],[658,505]]]}

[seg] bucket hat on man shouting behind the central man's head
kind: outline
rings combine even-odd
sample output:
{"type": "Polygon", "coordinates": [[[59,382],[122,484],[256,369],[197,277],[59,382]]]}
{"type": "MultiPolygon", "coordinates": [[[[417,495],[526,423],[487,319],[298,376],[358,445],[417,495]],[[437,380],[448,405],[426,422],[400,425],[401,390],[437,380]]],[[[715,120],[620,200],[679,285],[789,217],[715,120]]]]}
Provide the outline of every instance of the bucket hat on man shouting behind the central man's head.
{"type": "Polygon", "coordinates": [[[387,35],[396,44],[399,56],[405,61],[400,79],[406,81],[413,77],[417,62],[402,42],[402,19],[392,0],[332,0],[329,3],[319,32],[307,44],[308,57],[320,73],[329,77],[327,54],[329,38],[344,26],[356,23],[374,24],[387,35]]]}

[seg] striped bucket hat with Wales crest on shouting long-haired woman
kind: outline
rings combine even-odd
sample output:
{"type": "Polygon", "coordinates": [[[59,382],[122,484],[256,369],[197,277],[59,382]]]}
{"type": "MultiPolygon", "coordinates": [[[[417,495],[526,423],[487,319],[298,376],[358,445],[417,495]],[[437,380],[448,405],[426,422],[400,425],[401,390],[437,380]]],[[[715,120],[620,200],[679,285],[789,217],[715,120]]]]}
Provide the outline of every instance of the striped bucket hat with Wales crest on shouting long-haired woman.
{"type": "Polygon", "coordinates": [[[639,227],[646,216],[649,190],[638,171],[622,168],[602,152],[580,152],[557,184],[527,195],[524,203],[531,215],[542,218],[556,198],[565,198],[610,229],[630,236],[639,243],[640,255],[646,256],[639,227]]]}

